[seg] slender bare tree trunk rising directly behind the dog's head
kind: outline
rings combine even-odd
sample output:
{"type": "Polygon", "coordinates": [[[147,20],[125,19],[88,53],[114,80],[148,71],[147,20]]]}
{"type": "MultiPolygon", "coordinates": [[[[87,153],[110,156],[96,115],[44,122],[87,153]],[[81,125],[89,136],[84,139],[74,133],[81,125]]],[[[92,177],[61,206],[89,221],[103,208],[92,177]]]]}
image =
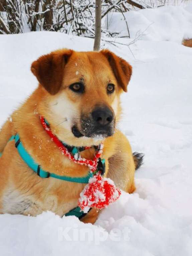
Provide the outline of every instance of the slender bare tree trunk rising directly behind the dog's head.
{"type": "Polygon", "coordinates": [[[95,39],[94,39],[94,51],[100,50],[101,42],[101,0],[95,1],[95,39]]]}

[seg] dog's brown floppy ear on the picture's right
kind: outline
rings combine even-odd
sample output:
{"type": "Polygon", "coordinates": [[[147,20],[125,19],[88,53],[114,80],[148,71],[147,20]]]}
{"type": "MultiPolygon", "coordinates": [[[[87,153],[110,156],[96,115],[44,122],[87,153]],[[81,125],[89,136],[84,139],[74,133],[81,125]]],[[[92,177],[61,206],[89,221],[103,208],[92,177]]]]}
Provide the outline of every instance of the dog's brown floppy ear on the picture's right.
{"type": "Polygon", "coordinates": [[[107,57],[117,82],[122,87],[124,92],[127,92],[127,85],[132,75],[132,66],[126,60],[120,58],[115,53],[107,49],[100,52],[107,57]]]}

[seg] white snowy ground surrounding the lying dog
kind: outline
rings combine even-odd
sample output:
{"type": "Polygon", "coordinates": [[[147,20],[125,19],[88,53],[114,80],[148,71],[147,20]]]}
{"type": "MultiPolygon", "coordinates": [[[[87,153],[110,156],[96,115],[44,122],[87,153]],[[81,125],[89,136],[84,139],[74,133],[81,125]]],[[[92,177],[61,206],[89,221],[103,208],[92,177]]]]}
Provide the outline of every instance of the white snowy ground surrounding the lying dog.
{"type": "MultiPolygon", "coordinates": [[[[60,47],[92,50],[93,40],[53,32],[0,36],[0,125],[37,85],[31,62],[60,47]]],[[[94,226],[52,213],[0,215],[1,256],[192,255],[192,48],[153,40],[138,40],[131,51],[102,47],[133,66],[119,127],[133,150],[145,153],[137,190],[123,193],[94,226]]]]}

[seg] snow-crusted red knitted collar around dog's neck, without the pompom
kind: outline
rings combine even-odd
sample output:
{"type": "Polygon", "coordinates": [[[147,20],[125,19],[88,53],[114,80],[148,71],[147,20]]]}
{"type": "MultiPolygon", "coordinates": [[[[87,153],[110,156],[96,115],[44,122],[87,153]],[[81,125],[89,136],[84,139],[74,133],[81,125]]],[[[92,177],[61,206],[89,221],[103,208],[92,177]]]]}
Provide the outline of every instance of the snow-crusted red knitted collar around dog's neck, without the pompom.
{"type": "MultiPolygon", "coordinates": [[[[79,156],[78,158],[76,158],[76,156],[73,156],[68,149],[63,145],[63,143],[57,138],[56,135],[54,135],[50,129],[50,126],[45,122],[44,117],[40,116],[40,120],[41,120],[41,124],[43,126],[43,128],[45,129],[45,131],[47,132],[47,134],[49,135],[49,137],[51,138],[52,141],[54,141],[54,143],[58,146],[58,148],[61,150],[62,154],[64,154],[66,157],[68,157],[71,161],[73,161],[74,163],[78,163],[81,165],[86,165],[89,167],[90,171],[94,172],[97,170],[97,166],[98,166],[98,161],[101,158],[101,155],[103,153],[103,143],[101,144],[101,146],[99,147],[99,150],[96,150],[95,154],[94,154],[94,158],[93,160],[90,159],[85,159],[82,158],[81,156],[79,156]]],[[[89,147],[86,147],[86,149],[89,147]]]]}

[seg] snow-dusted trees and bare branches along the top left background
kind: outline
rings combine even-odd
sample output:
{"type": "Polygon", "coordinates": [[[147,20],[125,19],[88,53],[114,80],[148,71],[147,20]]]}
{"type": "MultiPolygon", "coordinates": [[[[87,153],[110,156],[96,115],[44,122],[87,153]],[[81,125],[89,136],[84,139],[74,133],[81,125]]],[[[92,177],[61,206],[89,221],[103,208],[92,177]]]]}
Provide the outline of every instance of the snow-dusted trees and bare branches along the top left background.
{"type": "MultiPolygon", "coordinates": [[[[102,18],[111,11],[124,13],[132,0],[100,0],[102,18]]],[[[98,1],[98,2],[100,2],[98,1]]],[[[0,0],[0,33],[16,34],[29,31],[60,31],[78,36],[95,36],[95,0],[0,0]]],[[[102,29],[106,36],[117,31],[102,29]]]]}

